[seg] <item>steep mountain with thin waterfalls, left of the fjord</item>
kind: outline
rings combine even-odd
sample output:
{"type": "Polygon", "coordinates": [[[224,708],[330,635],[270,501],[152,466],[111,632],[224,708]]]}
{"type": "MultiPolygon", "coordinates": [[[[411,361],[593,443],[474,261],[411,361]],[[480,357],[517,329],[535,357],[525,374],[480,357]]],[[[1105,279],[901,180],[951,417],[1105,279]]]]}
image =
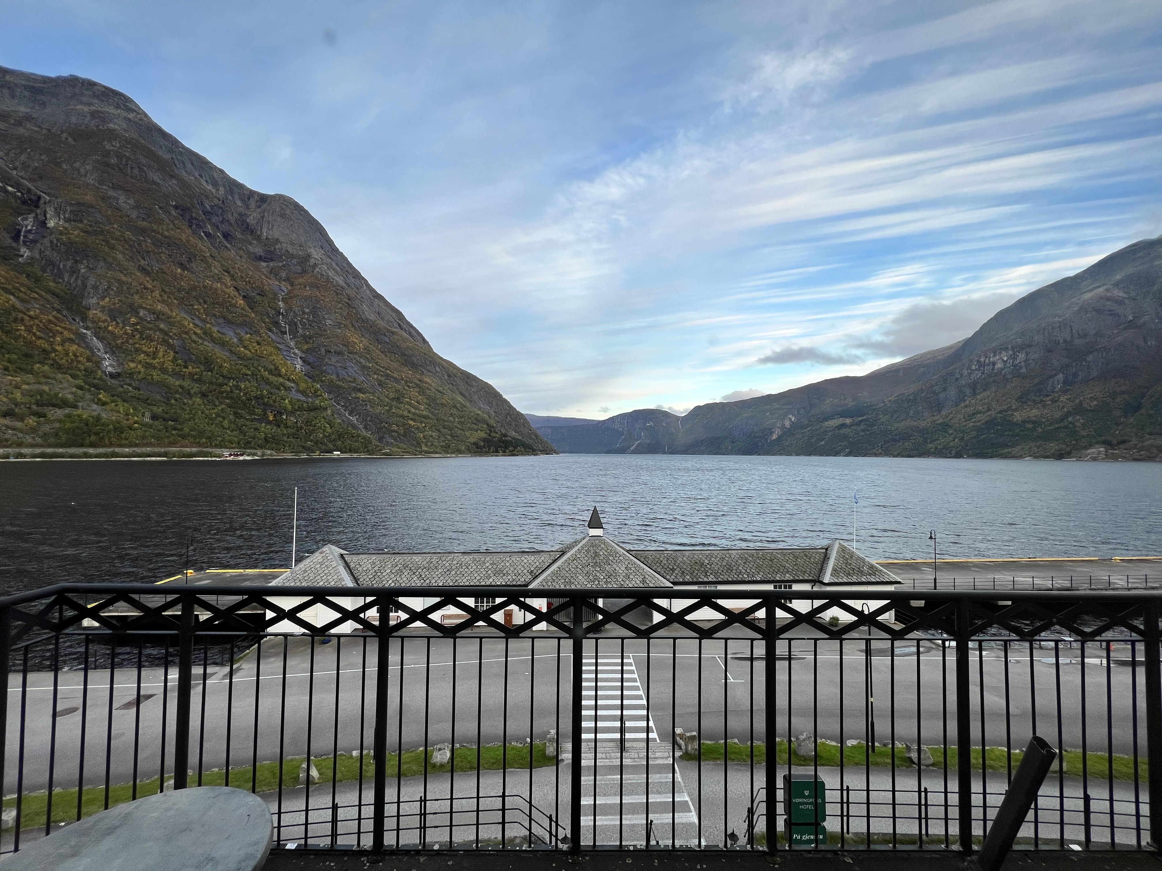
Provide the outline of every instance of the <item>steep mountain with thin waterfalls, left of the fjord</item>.
{"type": "Polygon", "coordinates": [[[552,451],[297,202],[117,91],[5,67],[0,444],[552,451]]]}

